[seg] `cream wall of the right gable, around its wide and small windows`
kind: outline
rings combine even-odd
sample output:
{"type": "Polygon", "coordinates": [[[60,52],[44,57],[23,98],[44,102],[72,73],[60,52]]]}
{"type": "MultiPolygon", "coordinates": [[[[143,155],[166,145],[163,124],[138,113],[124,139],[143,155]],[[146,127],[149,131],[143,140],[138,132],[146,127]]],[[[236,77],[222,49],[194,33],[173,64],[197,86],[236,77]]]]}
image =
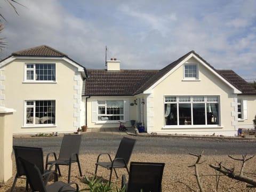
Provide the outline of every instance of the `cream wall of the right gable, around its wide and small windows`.
{"type": "MultiPolygon", "coordinates": [[[[191,62],[196,62],[192,60],[191,62]]],[[[199,63],[198,63],[199,64],[199,63]]],[[[151,94],[147,95],[148,132],[185,133],[185,134],[222,134],[235,135],[237,119],[232,111],[236,94],[202,64],[199,64],[198,81],[183,81],[183,66],[175,70],[169,77],[158,84],[151,94]],[[219,127],[199,128],[166,128],[164,126],[164,95],[219,95],[220,121],[219,127]]]]}

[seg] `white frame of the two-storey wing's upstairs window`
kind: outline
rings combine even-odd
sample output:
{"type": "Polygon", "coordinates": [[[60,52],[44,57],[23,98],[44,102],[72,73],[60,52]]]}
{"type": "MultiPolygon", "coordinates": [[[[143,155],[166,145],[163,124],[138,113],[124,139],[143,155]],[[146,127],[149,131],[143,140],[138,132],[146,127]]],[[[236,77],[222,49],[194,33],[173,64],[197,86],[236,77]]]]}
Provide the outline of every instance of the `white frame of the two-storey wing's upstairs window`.
{"type": "MultiPolygon", "coordinates": [[[[24,70],[24,82],[28,83],[55,83],[56,82],[56,63],[25,63],[24,70]],[[54,65],[55,66],[55,80],[37,80],[36,65],[54,65]],[[27,68],[27,66],[33,66],[33,68],[27,68]],[[33,71],[33,79],[27,79],[27,71],[33,71]]],[[[49,76],[47,74],[47,76],[49,76]]],[[[52,75],[53,76],[53,75],[52,75]]]]}

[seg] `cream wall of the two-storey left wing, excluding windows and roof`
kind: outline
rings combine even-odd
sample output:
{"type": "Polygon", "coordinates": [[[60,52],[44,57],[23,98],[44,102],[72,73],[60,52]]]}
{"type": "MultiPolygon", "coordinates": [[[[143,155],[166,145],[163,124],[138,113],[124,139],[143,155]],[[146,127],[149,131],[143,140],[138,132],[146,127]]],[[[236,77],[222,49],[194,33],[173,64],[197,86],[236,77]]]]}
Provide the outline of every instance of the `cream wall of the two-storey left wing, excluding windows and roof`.
{"type": "Polygon", "coordinates": [[[63,60],[16,59],[1,68],[2,106],[15,108],[14,134],[73,132],[80,126],[82,78],[77,68],[63,60]],[[25,83],[25,62],[56,63],[56,83],[25,83]],[[25,127],[25,100],[55,100],[55,126],[25,127]]]}

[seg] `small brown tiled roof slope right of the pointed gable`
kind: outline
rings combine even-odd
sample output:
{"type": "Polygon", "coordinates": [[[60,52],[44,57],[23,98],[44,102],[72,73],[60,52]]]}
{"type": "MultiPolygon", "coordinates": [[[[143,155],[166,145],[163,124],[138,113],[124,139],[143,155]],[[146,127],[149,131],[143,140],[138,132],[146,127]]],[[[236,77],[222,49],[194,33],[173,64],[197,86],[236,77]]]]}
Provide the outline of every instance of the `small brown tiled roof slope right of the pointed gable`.
{"type": "Polygon", "coordinates": [[[218,73],[242,91],[241,95],[256,95],[256,89],[233,70],[218,70],[218,73]]]}

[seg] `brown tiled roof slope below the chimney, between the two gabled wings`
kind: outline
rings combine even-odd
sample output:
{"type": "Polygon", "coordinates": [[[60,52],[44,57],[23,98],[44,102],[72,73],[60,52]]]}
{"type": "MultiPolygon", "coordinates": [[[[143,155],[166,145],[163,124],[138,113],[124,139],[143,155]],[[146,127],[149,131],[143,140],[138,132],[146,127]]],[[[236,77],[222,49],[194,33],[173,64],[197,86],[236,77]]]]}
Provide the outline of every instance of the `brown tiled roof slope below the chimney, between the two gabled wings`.
{"type": "Polygon", "coordinates": [[[87,69],[85,79],[86,96],[122,96],[134,93],[154,76],[158,70],[87,69]]]}

